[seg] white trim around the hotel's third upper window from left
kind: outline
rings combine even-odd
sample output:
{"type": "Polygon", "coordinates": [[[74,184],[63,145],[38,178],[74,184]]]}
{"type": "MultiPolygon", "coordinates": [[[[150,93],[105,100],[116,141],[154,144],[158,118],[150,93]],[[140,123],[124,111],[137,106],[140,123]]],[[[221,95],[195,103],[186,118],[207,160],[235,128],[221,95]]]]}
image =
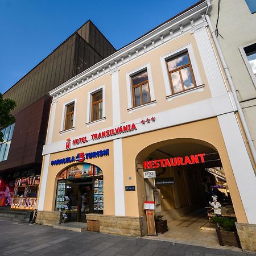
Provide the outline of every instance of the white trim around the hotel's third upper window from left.
{"type": "Polygon", "coordinates": [[[147,77],[148,77],[148,84],[149,84],[149,87],[150,87],[151,102],[155,101],[155,93],[154,93],[154,84],[153,84],[153,79],[152,79],[152,72],[151,72],[150,64],[148,63],[148,64],[143,65],[142,67],[139,67],[137,69],[134,69],[133,71],[126,74],[128,109],[131,109],[131,108],[139,109],[140,107],[143,107],[145,105],[145,104],[143,104],[141,106],[136,106],[136,107],[133,106],[133,92],[131,90],[131,76],[134,75],[135,73],[138,73],[139,71],[142,71],[143,69],[147,69],[147,77]]]}

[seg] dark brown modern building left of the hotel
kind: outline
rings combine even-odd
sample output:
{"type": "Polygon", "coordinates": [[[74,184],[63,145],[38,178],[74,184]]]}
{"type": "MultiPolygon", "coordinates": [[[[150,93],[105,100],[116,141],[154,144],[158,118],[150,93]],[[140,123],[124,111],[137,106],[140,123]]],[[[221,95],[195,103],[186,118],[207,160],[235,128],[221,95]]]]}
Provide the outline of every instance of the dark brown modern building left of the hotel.
{"type": "MultiPolygon", "coordinates": [[[[115,52],[114,47],[88,20],[67,40],[13,85],[3,98],[16,102],[15,123],[2,127],[0,143],[0,184],[9,184],[11,195],[17,177],[39,175],[45,144],[51,98],[49,90],[92,67],[115,52]]],[[[6,187],[2,185],[0,187],[6,187]]],[[[0,206],[10,205],[1,189],[0,206]]]]}

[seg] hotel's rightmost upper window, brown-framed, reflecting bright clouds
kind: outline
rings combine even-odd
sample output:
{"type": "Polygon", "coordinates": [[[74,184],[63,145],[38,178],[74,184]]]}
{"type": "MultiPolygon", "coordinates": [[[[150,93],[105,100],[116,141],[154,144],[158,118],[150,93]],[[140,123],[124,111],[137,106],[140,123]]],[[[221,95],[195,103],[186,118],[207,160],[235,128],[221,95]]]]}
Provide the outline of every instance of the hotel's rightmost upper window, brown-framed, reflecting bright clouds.
{"type": "Polygon", "coordinates": [[[196,86],[188,52],[183,52],[166,60],[172,94],[183,92],[196,86]]]}

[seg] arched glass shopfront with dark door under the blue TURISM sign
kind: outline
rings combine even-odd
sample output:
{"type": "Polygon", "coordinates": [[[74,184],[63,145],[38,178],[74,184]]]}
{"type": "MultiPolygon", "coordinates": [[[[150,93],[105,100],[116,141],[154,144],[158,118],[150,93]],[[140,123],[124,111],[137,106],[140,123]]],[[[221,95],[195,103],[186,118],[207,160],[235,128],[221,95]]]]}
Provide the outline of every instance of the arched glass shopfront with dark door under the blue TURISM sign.
{"type": "Polygon", "coordinates": [[[102,170],[90,163],[80,163],[61,171],[57,181],[55,210],[65,210],[67,214],[64,216],[68,221],[79,222],[86,222],[88,213],[103,213],[102,170]],[[69,201],[65,203],[67,199],[69,201]]]}

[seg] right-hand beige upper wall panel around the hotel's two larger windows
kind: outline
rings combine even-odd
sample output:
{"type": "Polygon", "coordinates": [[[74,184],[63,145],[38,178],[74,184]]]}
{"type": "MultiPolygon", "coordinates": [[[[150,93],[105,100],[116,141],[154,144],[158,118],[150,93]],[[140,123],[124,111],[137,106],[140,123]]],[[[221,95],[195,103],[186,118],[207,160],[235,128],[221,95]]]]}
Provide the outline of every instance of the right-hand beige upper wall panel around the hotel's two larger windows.
{"type": "Polygon", "coordinates": [[[195,36],[189,33],[184,34],[183,36],[180,36],[179,38],[164,44],[162,47],[158,47],[154,49],[154,51],[148,52],[147,54],[144,54],[138,59],[130,61],[129,63],[121,67],[119,71],[119,85],[121,86],[120,97],[122,99],[122,104],[120,108],[121,122],[122,121],[127,122],[131,119],[147,116],[148,114],[152,115],[154,113],[159,113],[166,109],[175,109],[180,106],[192,104],[193,102],[204,100],[205,98],[210,97],[210,90],[209,90],[207,78],[205,77],[204,68],[201,62],[199,51],[197,49],[197,44],[195,42],[195,36]],[[162,70],[162,65],[160,63],[160,57],[165,56],[168,53],[171,53],[183,46],[186,46],[189,43],[192,44],[192,48],[195,54],[197,66],[199,68],[201,80],[203,84],[205,84],[204,92],[195,92],[195,93],[184,95],[184,97],[174,98],[172,101],[167,101],[166,100],[167,94],[166,94],[166,89],[164,87],[163,70],[162,70]],[[151,66],[152,80],[154,84],[154,93],[156,98],[156,106],[144,108],[133,113],[128,113],[127,112],[128,96],[127,96],[126,73],[133,72],[135,69],[139,67],[143,67],[143,65],[146,65],[148,63],[150,63],[150,66],[151,66]]]}

